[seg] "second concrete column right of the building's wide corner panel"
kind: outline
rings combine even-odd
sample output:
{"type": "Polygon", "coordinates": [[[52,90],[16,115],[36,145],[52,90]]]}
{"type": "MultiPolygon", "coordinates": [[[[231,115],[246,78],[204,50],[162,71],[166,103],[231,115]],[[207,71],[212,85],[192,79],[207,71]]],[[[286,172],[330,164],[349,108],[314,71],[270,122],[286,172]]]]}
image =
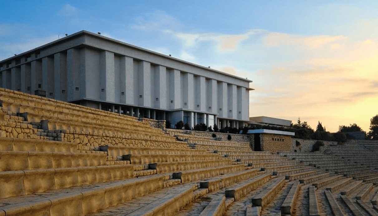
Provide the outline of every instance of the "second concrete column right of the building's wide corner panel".
{"type": "Polygon", "coordinates": [[[122,56],[119,66],[119,88],[124,95],[121,95],[121,103],[134,103],[134,64],[133,58],[122,56]]]}

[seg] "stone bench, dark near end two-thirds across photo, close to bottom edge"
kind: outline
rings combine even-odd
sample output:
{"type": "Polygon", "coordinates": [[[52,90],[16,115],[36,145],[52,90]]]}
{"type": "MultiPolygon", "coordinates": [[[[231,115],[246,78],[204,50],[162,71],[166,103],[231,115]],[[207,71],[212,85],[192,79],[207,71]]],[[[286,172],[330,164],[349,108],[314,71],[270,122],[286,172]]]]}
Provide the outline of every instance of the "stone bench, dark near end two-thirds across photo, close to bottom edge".
{"type": "Polygon", "coordinates": [[[285,178],[278,177],[271,181],[269,187],[262,190],[259,194],[252,196],[252,204],[256,206],[261,206],[264,208],[270,201],[274,199],[274,196],[281,190],[285,185],[285,178]]]}

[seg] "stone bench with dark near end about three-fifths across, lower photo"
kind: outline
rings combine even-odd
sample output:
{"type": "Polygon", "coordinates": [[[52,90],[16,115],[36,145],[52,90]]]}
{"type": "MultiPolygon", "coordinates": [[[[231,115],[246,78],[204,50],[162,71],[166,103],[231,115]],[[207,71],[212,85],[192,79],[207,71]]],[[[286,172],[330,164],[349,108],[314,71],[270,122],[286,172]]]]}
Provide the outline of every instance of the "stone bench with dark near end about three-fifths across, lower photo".
{"type": "Polygon", "coordinates": [[[240,182],[240,184],[237,184],[234,187],[226,188],[226,197],[234,198],[234,200],[237,201],[249,192],[255,190],[257,187],[265,184],[265,182],[270,181],[270,179],[270,174],[260,174],[252,179],[240,182]]]}

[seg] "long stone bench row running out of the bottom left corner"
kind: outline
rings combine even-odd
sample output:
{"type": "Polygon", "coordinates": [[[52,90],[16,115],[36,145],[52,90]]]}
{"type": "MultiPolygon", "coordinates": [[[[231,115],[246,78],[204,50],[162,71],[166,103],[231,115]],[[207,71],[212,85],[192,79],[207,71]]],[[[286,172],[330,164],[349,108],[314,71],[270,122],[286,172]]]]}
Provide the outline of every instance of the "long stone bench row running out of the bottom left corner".
{"type": "Polygon", "coordinates": [[[52,190],[43,196],[1,199],[6,215],[86,215],[164,188],[164,175],[52,190]]]}

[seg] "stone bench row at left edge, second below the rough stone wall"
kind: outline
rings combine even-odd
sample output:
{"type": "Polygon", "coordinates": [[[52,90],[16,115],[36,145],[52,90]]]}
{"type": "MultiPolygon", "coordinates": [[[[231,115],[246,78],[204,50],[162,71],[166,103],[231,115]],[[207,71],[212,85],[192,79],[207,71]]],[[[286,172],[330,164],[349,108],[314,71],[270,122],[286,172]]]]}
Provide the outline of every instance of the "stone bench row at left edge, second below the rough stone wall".
{"type": "Polygon", "coordinates": [[[105,154],[0,151],[0,171],[101,166],[106,159],[105,154]]]}

